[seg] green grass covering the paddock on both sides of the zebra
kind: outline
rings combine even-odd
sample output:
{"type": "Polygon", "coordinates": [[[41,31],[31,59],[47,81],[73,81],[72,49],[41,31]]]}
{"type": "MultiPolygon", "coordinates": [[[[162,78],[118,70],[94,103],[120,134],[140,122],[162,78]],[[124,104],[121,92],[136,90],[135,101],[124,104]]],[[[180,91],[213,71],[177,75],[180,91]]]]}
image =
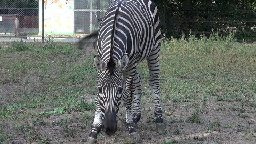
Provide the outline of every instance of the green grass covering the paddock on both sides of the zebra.
{"type": "MultiPolygon", "coordinates": [[[[239,132],[254,134],[249,133],[245,124],[223,122],[226,125],[222,127],[223,119],[206,121],[205,118],[211,113],[231,111],[235,112],[233,116],[244,119],[246,123],[247,119],[255,116],[256,45],[237,43],[232,34],[228,37],[212,34],[210,38],[202,36],[200,39],[193,35],[188,39],[184,36],[180,39],[163,37],[163,41],[159,99],[165,118],[169,118],[166,126],[205,124],[202,130],[219,131],[235,127],[239,132]]],[[[94,117],[97,92],[94,54],[88,53],[88,50],[79,50],[74,44],[58,43],[53,39],[49,39],[44,46],[25,42],[1,44],[0,88],[5,92],[0,90],[0,96],[5,101],[0,105],[0,118],[4,121],[0,124],[5,126],[8,121],[15,121],[17,124],[11,127],[12,130],[26,132],[30,142],[47,143],[52,139],[33,127],[49,125],[47,119],[53,117],[79,112],[83,115],[55,119],[50,122],[51,126],[59,126],[67,138],[77,138],[79,131],[89,133],[83,126],[89,126],[94,117]],[[24,124],[26,119],[28,123],[24,124]],[[83,130],[73,125],[77,122],[83,123],[83,130]]],[[[142,117],[144,121],[148,119],[147,122],[151,122],[154,109],[148,105],[153,98],[147,84],[146,61],[138,65],[137,69],[142,79],[142,117]]],[[[154,126],[150,124],[143,128],[152,133],[154,126]]],[[[179,127],[171,134],[186,134],[186,131],[179,127]]],[[[11,133],[7,129],[0,128],[0,142],[6,142],[8,135],[11,133]]],[[[129,143],[129,140],[120,140],[125,137],[116,139],[129,143]]],[[[207,140],[201,136],[191,138],[195,141],[207,140]]]]}

